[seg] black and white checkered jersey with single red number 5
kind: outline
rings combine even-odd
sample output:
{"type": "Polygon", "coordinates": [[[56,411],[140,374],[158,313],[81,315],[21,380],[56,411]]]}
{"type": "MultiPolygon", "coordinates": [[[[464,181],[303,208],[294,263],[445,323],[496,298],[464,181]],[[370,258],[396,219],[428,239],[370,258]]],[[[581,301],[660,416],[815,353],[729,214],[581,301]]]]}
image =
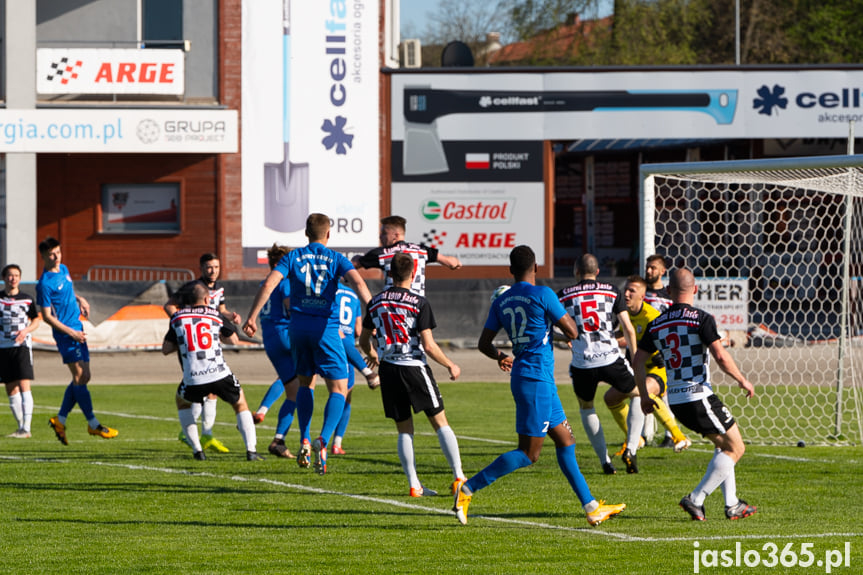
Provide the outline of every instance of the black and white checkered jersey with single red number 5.
{"type": "Polygon", "coordinates": [[[582,280],[557,292],[557,297],[578,326],[578,339],[572,340],[573,367],[603,367],[622,357],[614,328],[626,303],[617,287],[582,280]]]}

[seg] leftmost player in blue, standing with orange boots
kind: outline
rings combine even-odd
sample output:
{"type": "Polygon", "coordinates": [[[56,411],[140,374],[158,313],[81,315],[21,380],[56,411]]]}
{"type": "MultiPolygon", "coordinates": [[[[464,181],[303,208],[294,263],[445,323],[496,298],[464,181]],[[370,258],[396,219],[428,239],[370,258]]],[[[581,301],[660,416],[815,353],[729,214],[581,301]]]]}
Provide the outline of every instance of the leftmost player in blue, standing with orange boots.
{"type": "Polygon", "coordinates": [[[60,411],[48,420],[60,443],[69,445],[66,439],[66,417],[77,403],[87,418],[87,432],[105,439],[117,437],[116,429],[99,423],[93,413],[93,400],[87,382],[90,381],[90,351],[87,348],[87,334],[81,323],[81,314],[90,315],[90,304],[75,294],[69,269],[63,264],[60,242],[55,238],[45,238],[39,243],[39,255],[45,266],[39,283],[36,284],[36,301],[42,308],[45,323],[51,326],[57,349],[63,363],[72,373],[72,382],[66,387],[60,411]]]}

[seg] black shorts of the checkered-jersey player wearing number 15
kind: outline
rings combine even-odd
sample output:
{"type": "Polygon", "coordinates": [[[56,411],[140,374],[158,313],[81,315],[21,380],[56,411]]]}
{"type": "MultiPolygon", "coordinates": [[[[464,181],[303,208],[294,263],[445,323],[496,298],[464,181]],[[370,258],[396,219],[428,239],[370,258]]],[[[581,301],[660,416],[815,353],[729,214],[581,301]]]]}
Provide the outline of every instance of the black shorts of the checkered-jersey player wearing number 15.
{"type": "Polygon", "coordinates": [[[410,419],[414,413],[424,412],[431,417],[443,411],[443,398],[427,365],[396,365],[382,362],[378,368],[381,377],[381,400],[384,414],[394,421],[410,419]]]}

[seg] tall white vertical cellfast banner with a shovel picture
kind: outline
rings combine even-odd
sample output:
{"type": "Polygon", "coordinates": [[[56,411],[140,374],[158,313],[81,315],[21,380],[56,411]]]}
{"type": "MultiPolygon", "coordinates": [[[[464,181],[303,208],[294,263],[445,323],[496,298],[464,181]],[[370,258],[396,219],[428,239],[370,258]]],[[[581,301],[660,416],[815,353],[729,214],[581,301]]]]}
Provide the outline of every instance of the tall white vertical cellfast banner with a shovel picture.
{"type": "Polygon", "coordinates": [[[243,2],[245,265],[312,212],[331,247],[377,245],[378,84],[377,2],[243,2]]]}

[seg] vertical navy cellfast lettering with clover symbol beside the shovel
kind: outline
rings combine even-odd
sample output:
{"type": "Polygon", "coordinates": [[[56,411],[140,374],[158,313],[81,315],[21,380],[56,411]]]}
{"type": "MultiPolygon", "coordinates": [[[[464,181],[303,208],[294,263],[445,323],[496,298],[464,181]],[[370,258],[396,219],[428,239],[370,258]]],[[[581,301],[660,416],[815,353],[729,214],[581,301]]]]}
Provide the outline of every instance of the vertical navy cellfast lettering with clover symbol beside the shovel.
{"type": "MultiPolygon", "coordinates": [[[[330,84],[329,102],[333,111],[337,112],[345,105],[348,92],[345,88],[345,78],[348,68],[345,63],[346,38],[347,38],[347,4],[343,1],[331,0],[330,17],[324,22],[325,52],[332,56],[329,63],[330,84]]],[[[326,134],[321,143],[327,150],[335,148],[336,154],[345,155],[348,148],[353,147],[354,136],[345,131],[348,119],[336,114],[332,119],[325,118],[321,124],[321,130],[326,134]]]]}

